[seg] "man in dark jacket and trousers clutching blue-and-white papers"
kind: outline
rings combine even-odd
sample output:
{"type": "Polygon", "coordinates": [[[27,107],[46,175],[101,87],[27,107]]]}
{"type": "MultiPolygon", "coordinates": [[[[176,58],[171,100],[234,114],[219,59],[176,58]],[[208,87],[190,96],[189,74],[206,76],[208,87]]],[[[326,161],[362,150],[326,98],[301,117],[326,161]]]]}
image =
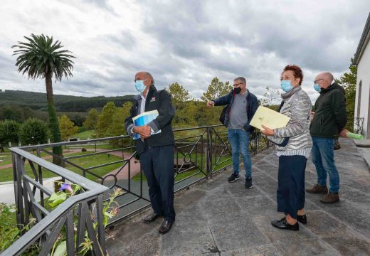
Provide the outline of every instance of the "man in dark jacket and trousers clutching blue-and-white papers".
{"type": "Polygon", "coordinates": [[[135,87],[139,95],[135,98],[130,110],[130,116],[125,119],[127,134],[136,139],[136,150],[140,164],[147,177],[149,197],[153,212],[144,218],[144,223],[150,223],[159,216],[164,221],[159,233],[167,233],[175,220],[174,210],[174,133],[171,120],[175,110],[171,96],[166,90],[157,91],[154,79],[148,72],[135,75],[135,87]],[[135,126],[132,117],[143,112],[157,110],[159,115],[152,122],[135,126]]]}

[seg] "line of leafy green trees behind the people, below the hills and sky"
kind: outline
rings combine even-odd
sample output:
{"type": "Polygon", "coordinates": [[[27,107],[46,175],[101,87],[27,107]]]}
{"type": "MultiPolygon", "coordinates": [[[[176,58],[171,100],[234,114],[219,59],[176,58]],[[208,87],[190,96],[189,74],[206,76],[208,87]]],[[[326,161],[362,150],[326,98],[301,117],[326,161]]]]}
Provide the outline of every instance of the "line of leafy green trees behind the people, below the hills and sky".
{"type": "MultiPolygon", "coordinates": [[[[347,97],[347,113],[349,122],[347,127],[352,129],[354,117],[354,101],[356,97],[356,66],[350,66],[350,72],[344,73],[339,80],[339,85],[344,87],[347,97]]],[[[207,91],[203,93],[201,99],[194,99],[189,92],[174,82],[164,88],[171,95],[176,115],[173,119],[173,126],[197,127],[204,125],[219,124],[218,117],[222,107],[206,107],[206,101],[216,99],[226,95],[233,89],[230,82],[223,82],[217,77],[213,78],[208,85],[207,91]]],[[[132,96],[131,96],[132,97],[132,96]]],[[[265,88],[265,94],[260,98],[260,105],[277,110],[279,105],[274,104],[280,100],[278,90],[265,88]]],[[[124,122],[125,117],[129,116],[129,110],[132,107],[132,101],[128,100],[124,104],[117,105],[114,101],[107,102],[101,111],[92,108],[85,116],[68,116],[60,114],[58,116],[61,139],[66,140],[73,134],[84,131],[94,130],[95,137],[114,137],[126,134],[124,122]]],[[[11,143],[18,144],[42,144],[51,138],[51,132],[48,127],[48,115],[40,115],[38,112],[28,107],[0,107],[0,144],[1,146],[11,143]],[[36,117],[35,117],[36,116],[36,117]],[[1,118],[3,117],[3,118],[1,118]],[[5,117],[5,118],[4,118],[5,117]],[[26,119],[23,121],[23,119],[26,119]]]]}

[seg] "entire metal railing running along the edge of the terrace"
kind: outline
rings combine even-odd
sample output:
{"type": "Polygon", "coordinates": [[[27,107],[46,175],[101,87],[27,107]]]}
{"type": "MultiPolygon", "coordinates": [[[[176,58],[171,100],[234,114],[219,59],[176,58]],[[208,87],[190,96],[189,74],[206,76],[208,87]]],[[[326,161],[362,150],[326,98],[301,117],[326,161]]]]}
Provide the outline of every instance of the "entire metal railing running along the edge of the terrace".
{"type": "MultiPolygon", "coordinates": [[[[232,164],[226,127],[213,125],[174,129],[174,135],[175,193],[213,176],[232,164]]],[[[270,146],[270,144],[260,132],[255,132],[250,136],[249,148],[251,154],[257,154],[267,146],[270,146]]],[[[20,226],[28,224],[30,215],[36,218],[37,223],[6,250],[6,255],[18,255],[31,246],[33,242],[39,242],[43,247],[44,255],[47,255],[61,228],[65,227],[67,233],[73,233],[73,230],[70,230],[73,215],[79,216],[79,223],[86,224],[78,225],[78,234],[85,232],[85,227],[87,227],[88,235],[93,240],[93,245],[95,245],[94,253],[100,255],[101,252],[105,252],[104,228],[101,223],[102,203],[109,200],[108,193],[112,193],[115,188],[120,188],[123,191],[120,196],[115,198],[120,211],[110,220],[107,228],[150,206],[149,189],[145,176],[141,166],[139,166],[139,161],[135,159],[132,139],[127,136],[23,146],[12,148],[11,151],[14,159],[17,223],[20,226]],[[115,149],[101,149],[102,142],[109,142],[109,144],[117,147],[115,149]],[[53,146],[63,146],[70,151],[74,151],[74,154],[53,155],[51,152],[53,146]],[[80,153],[81,147],[87,151],[80,153]],[[28,151],[34,151],[36,156],[28,151]],[[51,156],[59,158],[63,167],[51,164],[41,158],[50,158],[51,156]],[[116,159],[112,159],[113,156],[116,159]],[[119,159],[117,159],[117,156],[119,156],[119,159]],[[93,161],[92,159],[98,158],[100,158],[100,161],[101,159],[106,161],[89,165],[89,162],[93,161]],[[29,164],[27,168],[25,167],[26,161],[29,164]],[[28,172],[26,169],[28,169],[28,172]],[[28,175],[30,169],[33,177],[28,175]],[[43,186],[43,174],[46,170],[60,176],[63,182],[69,181],[78,184],[86,191],[68,198],[62,205],[49,213],[44,206],[44,199],[46,196],[50,196],[52,191],[43,186]],[[34,197],[36,191],[38,191],[40,197],[39,203],[34,197]],[[86,210],[92,210],[93,205],[97,206],[96,214],[99,221],[98,233],[95,235],[95,231],[91,229],[90,218],[81,214],[85,213],[86,210]],[[98,245],[100,245],[101,250],[97,248],[98,245]]],[[[81,238],[80,235],[78,235],[78,238],[81,238]]],[[[79,245],[79,242],[81,241],[78,240],[76,245],[79,245]]],[[[73,255],[75,251],[74,241],[69,240],[68,255],[73,255]]]]}

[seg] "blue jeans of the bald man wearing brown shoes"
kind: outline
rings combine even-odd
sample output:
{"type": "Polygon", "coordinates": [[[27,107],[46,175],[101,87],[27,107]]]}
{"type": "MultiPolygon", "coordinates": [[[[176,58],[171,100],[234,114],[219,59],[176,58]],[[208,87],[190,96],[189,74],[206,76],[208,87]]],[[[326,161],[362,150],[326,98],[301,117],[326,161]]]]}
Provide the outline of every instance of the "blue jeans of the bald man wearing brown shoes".
{"type": "Polygon", "coordinates": [[[339,173],[334,163],[335,139],[312,137],[312,162],[316,167],[317,183],[320,186],[327,185],[327,173],[329,174],[329,191],[338,193],[339,173]]]}

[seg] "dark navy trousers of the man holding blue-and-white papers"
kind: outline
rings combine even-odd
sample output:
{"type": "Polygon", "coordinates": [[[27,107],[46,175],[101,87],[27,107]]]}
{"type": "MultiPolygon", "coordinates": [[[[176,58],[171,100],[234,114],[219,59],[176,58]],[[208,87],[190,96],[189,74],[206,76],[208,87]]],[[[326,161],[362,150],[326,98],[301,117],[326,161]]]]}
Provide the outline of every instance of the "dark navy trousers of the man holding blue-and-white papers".
{"type": "Polygon", "coordinates": [[[149,198],[154,213],[175,220],[174,146],[156,146],[140,154],[140,164],[147,177],[149,198]]]}

